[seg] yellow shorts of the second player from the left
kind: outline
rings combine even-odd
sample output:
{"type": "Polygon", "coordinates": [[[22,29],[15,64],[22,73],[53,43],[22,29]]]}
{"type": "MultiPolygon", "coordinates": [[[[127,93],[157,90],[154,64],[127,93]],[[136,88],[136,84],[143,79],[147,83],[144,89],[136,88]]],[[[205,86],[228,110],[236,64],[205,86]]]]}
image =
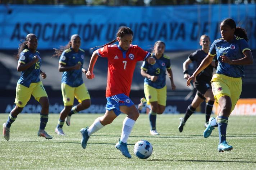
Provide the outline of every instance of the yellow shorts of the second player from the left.
{"type": "Polygon", "coordinates": [[[78,87],[71,87],[68,84],[61,83],[61,92],[64,106],[73,106],[74,97],[76,97],[79,103],[82,103],[85,99],[91,99],[84,83],[78,87]]]}

